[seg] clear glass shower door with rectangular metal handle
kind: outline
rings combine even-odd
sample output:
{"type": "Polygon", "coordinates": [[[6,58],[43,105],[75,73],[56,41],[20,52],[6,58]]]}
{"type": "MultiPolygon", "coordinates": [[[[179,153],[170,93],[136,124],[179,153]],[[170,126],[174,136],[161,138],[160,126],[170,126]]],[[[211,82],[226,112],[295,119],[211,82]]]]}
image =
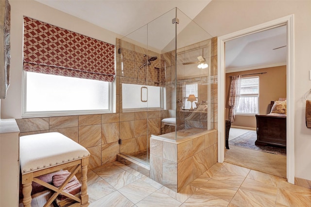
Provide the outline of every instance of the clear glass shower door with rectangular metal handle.
{"type": "MultiPolygon", "coordinates": [[[[117,41],[119,85],[120,153],[148,164],[146,71],[148,26],[117,41]],[[143,101],[141,101],[143,100],[143,101]]],[[[118,91],[117,91],[118,93],[118,91]]]]}

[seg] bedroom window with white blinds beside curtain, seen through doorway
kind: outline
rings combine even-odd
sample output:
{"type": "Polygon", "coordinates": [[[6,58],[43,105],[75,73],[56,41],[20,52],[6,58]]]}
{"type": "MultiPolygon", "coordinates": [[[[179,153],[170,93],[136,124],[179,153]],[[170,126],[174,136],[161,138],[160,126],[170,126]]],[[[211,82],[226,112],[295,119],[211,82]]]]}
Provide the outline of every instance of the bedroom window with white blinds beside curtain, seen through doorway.
{"type": "Polygon", "coordinates": [[[237,114],[259,113],[259,77],[247,77],[241,80],[239,106],[237,114]]]}

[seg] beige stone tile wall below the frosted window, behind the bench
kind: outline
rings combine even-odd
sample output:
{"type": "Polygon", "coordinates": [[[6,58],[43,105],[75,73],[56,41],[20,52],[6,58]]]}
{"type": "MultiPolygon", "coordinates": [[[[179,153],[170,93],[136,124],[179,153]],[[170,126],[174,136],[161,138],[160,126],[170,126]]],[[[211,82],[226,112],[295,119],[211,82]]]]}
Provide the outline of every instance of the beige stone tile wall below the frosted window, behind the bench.
{"type": "Polygon", "coordinates": [[[60,132],[86,147],[89,168],[116,160],[119,150],[119,113],[17,119],[20,136],[60,132]]]}

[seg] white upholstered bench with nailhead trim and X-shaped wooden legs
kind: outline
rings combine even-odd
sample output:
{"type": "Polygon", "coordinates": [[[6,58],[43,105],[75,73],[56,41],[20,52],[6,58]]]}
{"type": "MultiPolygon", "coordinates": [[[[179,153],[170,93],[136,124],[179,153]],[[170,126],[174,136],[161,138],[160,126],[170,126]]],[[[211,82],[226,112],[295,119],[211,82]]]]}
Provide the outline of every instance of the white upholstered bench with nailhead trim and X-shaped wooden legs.
{"type": "Polygon", "coordinates": [[[77,201],[70,207],[86,207],[89,205],[86,174],[90,154],[86,148],[58,132],[22,136],[20,137],[19,148],[24,207],[31,207],[32,182],[54,191],[44,207],[50,206],[58,194],[77,201]],[[70,168],[71,174],[59,188],[36,178],[65,168],[70,168]],[[76,197],[63,191],[63,189],[80,169],[82,174],[81,194],[80,197],[76,197]]]}

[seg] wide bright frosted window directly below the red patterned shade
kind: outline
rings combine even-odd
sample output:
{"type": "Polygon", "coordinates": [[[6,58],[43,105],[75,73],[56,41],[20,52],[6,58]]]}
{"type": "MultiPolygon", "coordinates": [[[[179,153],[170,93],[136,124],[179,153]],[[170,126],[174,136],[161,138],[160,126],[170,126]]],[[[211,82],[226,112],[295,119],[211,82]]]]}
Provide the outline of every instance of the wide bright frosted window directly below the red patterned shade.
{"type": "Polygon", "coordinates": [[[23,117],[112,112],[111,82],[24,72],[23,117]]]}

